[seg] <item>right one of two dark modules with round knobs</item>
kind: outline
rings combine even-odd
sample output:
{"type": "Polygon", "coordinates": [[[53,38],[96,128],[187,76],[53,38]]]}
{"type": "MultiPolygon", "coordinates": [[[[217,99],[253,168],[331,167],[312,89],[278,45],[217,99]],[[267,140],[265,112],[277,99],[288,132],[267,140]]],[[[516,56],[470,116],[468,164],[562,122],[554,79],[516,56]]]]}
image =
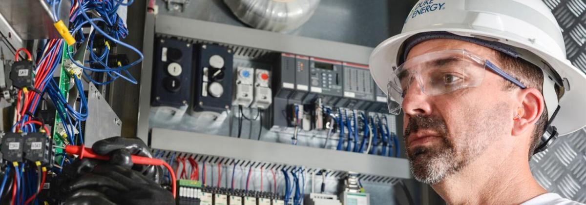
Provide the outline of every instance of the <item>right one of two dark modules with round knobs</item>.
{"type": "Polygon", "coordinates": [[[198,44],[193,111],[223,112],[232,104],[233,58],[227,47],[198,44]]]}

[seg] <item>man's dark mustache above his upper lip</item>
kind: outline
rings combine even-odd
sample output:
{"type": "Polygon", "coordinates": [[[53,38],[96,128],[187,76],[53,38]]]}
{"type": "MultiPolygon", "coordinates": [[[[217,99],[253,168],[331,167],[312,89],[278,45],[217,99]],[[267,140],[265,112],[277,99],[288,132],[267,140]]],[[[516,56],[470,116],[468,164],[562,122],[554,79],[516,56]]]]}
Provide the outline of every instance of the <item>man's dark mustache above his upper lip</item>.
{"type": "Polygon", "coordinates": [[[448,134],[448,128],[445,125],[443,118],[435,116],[415,115],[409,118],[407,127],[404,130],[403,139],[407,141],[407,137],[412,133],[417,133],[421,129],[429,129],[437,132],[443,138],[448,134]]]}

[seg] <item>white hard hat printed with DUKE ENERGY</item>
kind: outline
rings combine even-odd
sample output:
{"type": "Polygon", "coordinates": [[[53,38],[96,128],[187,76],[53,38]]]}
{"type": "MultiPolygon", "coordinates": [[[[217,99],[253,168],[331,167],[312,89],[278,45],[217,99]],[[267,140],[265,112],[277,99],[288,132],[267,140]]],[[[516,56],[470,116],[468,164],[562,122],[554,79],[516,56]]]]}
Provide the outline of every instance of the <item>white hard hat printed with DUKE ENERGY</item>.
{"type": "Polygon", "coordinates": [[[567,60],[560,27],[540,0],[420,0],[407,16],[403,31],[384,40],[370,55],[370,74],[381,90],[386,93],[406,40],[428,32],[449,32],[512,47],[516,57],[544,71],[548,118],[560,107],[551,122],[557,132],[566,135],[586,125],[586,75],[567,60]],[[561,96],[556,95],[556,88],[561,96]]]}

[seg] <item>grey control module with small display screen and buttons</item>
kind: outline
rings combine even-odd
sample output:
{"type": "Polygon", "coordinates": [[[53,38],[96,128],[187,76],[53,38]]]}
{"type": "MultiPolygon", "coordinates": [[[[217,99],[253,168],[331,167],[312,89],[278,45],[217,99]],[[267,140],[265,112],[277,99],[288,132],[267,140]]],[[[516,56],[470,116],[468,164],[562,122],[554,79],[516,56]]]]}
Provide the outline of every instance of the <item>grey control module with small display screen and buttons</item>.
{"type": "Polygon", "coordinates": [[[304,104],[311,103],[319,96],[323,104],[335,105],[343,97],[342,62],[311,57],[309,70],[311,85],[304,104]]]}

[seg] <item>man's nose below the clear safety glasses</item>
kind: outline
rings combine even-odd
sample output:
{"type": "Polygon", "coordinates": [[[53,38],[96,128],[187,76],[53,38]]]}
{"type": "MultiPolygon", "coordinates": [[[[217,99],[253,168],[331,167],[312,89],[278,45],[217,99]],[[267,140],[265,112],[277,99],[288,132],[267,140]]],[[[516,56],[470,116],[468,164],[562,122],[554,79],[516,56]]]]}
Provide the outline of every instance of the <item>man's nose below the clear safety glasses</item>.
{"type": "Polygon", "coordinates": [[[431,104],[429,103],[429,96],[423,93],[420,84],[413,79],[407,87],[405,96],[403,97],[403,111],[409,117],[415,115],[429,115],[431,114],[431,104]]]}

